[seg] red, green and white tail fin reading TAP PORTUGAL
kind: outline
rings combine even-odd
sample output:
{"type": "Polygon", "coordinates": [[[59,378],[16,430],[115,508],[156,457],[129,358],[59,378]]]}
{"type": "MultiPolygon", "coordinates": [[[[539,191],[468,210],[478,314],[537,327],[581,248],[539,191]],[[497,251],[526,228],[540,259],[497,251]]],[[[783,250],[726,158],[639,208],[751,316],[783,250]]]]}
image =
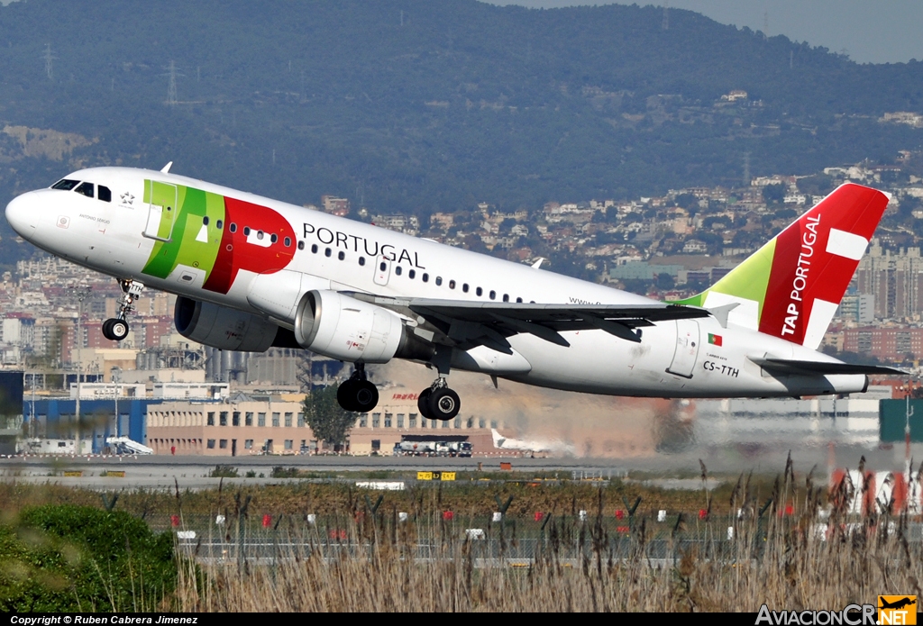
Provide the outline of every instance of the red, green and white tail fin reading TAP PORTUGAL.
{"type": "Polygon", "coordinates": [[[737,303],[728,322],[817,349],[888,196],[845,183],[710,289],[680,304],[737,303]]]}

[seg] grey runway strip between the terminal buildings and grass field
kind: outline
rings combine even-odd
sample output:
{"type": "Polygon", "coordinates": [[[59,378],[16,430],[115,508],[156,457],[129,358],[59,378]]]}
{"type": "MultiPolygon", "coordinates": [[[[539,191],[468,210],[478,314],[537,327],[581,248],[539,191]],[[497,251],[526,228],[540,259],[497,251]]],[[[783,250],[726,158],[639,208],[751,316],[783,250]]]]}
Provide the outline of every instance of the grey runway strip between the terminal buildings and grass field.
{"type": "MultiPolygon", "coordinates": [[[[532,478],[536,473],[560,479],[610,479],[641,474],[646,478],[669,480],[701,472],[699,461],[713,476],[736,476],[740,472],[775,475],[785,468],[791,450],[797,472],[826,474],[828,466],[857,467],[860,458],[866,467],[878,471],[904,469],[904,446],[792,445],[763,449],[748,446],[696,446],[679,454],[654,454],[636,458],[525,458],[474,456],[471,458],[413,456],[337,456],[337,455],[255,455],[255,456],[90,456],[90,457],[8,457],[0,459],[0,480],[29,483],[54,483],[88,489],[209,489],[216,488],[222,478],[210,478],[218,465],[234,467],[240,478],[223,478],[224,485],[269,485],[303,478],[271,478],[274,467],[294,467],[303,472],[328,474],[327,479],[367,479],[370,472],[393,472],[389,479],[415,479],[418,471],[450,471],[458,479],[491,478],[512,480],[532,478]],[[500,463],[509,463],[509,471],[500,463]],[[65,476],[80,472],[81,476],[65,476]],[[124,476],[121,474],[124,472],[124,476]],[[247,473],[250,478],[246,477],[247,473]],[[115,473],[109,475],[107,473],[115,473]]],[[[911,455],[923,459],[923,444],[914,444],[911,455]]],[[[315,478],[318,478],[315,474],[315,478]]]]}

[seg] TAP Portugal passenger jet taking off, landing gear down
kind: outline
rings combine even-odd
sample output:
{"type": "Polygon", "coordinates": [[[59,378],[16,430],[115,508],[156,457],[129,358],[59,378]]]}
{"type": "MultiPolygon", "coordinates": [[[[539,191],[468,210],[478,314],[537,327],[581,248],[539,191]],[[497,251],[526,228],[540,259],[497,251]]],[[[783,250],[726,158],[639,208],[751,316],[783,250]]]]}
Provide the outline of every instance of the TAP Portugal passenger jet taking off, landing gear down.
{"type": "Polygon", "coordinates": [[[428,419],[455,418],[451,370],[574,392],[666,398],[864,391],[869,374],[817,348],[888,197],[845,183],[724,278],[661,302],[161,171],[74,171],[6,206],[42,250],[118,280],[102,334],[121,341],[145,287],[176,294],[188,339],[305,348],[354,364],[337,392],[367,412],[366,365],[435,369],[428,419]]]}

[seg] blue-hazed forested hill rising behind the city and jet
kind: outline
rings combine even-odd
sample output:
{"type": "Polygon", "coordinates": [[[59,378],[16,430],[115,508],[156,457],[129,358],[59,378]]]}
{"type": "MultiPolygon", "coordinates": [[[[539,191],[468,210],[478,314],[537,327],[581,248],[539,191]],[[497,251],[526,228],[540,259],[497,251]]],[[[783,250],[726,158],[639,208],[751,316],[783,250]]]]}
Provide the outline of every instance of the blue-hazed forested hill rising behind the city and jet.
{"type": "Polygon", "coordinates": [[[0,200],[78,165],[174,160],[299,204],[426,214],[739,182],[748,154],[758,175],[920,146],[878,120],[923,112],[921,63],[857,65],[675,9],[664,27],[653,6],[473,0],[0,6],[0,200]]]}

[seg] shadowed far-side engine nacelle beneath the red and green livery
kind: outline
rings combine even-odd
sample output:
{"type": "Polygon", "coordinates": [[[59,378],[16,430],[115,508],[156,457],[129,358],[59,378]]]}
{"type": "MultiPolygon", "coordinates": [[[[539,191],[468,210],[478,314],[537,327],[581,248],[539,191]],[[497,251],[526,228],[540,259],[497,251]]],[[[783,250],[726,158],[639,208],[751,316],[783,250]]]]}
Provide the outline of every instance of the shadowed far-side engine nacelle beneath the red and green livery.
{"type": "Polygon", "coordinates": [[[192,341],[242,352],[265,352],[279,332],[279,326],[257,315],[183,296],[176,299],[174,325],[192,341]]]}

